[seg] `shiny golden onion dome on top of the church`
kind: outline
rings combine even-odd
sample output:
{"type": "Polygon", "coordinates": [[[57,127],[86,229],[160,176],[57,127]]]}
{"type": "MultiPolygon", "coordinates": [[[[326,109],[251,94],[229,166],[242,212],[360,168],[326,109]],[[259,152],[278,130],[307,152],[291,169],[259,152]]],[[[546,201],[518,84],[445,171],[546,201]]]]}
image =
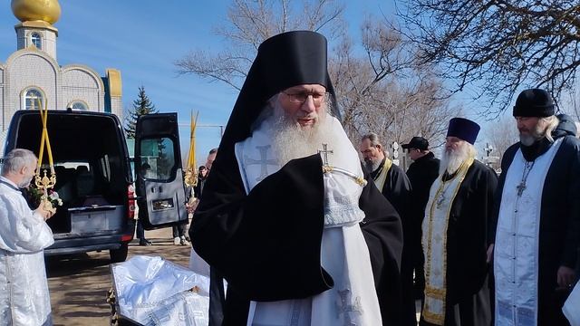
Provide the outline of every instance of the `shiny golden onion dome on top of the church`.
{"type": "Polygon", "coordinates": [[[21,22],[44,21],[54,24],[61,16],[58,0],[12,0],[12,12],[21,22]]]}

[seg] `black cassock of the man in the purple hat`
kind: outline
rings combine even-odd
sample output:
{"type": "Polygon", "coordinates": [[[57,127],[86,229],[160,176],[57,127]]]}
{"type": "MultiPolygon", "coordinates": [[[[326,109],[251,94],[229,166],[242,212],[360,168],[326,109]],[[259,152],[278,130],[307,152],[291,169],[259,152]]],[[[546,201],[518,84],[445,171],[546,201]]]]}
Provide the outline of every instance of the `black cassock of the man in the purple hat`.
{"type": "MultiPolygon", "coordinates": [[[[497,185],[496,173],[475,160],[449,210],[445,325],[490,324],[491,266],[486,261],[497,185]]],[[[425,218],[429,210],[430,204],[425,209],[425,218]]],[[[420,324],[430,325],[425,321],[420,324]]]]}

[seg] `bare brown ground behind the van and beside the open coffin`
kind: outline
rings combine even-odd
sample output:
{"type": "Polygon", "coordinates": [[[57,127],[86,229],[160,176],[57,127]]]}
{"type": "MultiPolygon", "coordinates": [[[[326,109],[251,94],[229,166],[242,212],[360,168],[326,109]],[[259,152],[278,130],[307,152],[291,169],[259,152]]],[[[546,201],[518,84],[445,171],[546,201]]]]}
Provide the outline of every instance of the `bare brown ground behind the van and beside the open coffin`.
{"type": "MultiPolygon", "coordinates": [[[[135,254],[159,255],[183,266],[189,263],[189,245],[173,245],[171,228],[147,231],[151,246],[135,241],[129,257],[135,254]]],[[[54,325],[109,325],[111,308],[106,302],[111,288],[109,252],[50,257],[48,285],[54,325]]]]}

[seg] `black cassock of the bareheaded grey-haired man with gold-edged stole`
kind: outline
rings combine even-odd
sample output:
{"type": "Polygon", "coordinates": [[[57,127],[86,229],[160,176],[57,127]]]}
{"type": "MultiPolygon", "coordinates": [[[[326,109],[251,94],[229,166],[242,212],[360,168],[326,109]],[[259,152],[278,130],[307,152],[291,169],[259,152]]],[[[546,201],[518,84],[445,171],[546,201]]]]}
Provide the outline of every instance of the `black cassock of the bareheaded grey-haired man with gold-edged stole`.
{"type": "MultiPolygon", "coordinates": [[[[381,163],[381,167],[384,160],[381,163]]],[[[379,177],[380,170],[377,168],[371,177],[379,177]]],[[[416,325],[415,299],[413,295],[413,266],[414,255],[420,248],[420,224],[415,223],[411,216],[411,182],[409,177],[399,166],[392,164],[384,184],[382,196],[387,198],[401,216],[403,249],[401,256],[401,318],[403,325],[416,325]]]]}

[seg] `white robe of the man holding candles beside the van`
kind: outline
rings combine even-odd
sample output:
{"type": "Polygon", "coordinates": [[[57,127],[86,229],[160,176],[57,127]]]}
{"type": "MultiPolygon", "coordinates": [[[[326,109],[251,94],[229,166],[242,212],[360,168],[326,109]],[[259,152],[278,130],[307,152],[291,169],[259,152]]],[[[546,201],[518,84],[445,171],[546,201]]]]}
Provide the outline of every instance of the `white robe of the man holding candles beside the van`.
{"type": "Polygon", "coordinates": [[[52,325],[43,249],[53,232],[0,177],[0,326],[52,325]]]}

